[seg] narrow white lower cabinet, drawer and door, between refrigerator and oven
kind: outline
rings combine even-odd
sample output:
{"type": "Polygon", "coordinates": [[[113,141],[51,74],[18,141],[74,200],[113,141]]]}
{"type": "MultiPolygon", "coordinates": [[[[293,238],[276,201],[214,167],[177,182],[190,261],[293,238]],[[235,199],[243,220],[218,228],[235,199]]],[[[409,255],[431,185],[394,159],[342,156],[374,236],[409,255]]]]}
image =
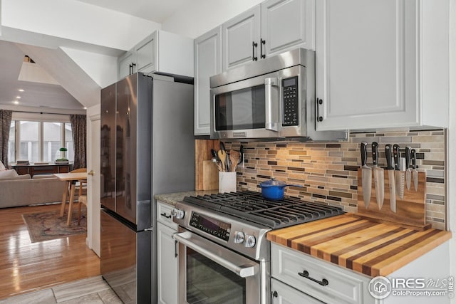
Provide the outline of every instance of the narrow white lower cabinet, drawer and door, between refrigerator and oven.
{"type": "Polygon", "coordinates": [[[177,304],[178,271],[177,243],[172,234],[177,224],[172,221],[172,206],[157,202],[157,302],[177,304]]]}

